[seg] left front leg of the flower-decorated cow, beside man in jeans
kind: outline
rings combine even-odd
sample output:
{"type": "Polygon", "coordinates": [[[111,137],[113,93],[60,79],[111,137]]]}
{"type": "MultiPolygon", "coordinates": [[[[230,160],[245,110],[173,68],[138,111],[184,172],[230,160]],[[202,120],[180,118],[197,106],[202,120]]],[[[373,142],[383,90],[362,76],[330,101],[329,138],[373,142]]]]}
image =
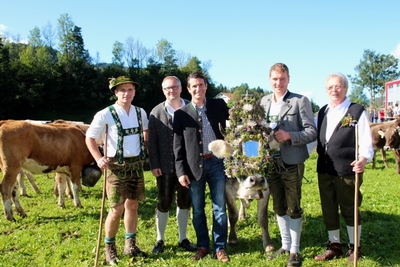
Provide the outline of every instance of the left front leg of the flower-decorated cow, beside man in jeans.
{"type": "Polygon", "coordinates": [[[228,244],[236,245],[236,222],[239,218],[238,208],[236,206],[236,192],[237,192],[237,180],[234,178],[228,178],[225,186],[226,206],[228,209],[228,222],[229,222],[229,237],[228,244]]]}

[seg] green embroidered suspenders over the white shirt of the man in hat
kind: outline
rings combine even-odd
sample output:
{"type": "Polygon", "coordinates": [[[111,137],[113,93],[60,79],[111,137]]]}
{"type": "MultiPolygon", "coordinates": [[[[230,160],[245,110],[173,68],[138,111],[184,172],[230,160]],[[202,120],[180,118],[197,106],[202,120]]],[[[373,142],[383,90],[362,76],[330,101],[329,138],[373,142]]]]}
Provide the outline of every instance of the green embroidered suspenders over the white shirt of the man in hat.
{"type": "Polygon", "coordinates": [[[122,129],[122,123],[118,117],[117,111],[113,106],[109,106],[108,109],[111,112],[111,115],[115,121],[115,125],[118,130],[118,142],[117,142],[117,152],[115,154],[115,158],[117,159],[118,164],[122,164],[124,161],[124,136],[139,134],[140,135],[140,158],[146,158],[146,150],[144,146],[144,137],[143,137],[143,121],[142,121],[142,113],[140,112],[139,107],[135,107],[136,114],[138,118],[139,127],[122,129]]]}

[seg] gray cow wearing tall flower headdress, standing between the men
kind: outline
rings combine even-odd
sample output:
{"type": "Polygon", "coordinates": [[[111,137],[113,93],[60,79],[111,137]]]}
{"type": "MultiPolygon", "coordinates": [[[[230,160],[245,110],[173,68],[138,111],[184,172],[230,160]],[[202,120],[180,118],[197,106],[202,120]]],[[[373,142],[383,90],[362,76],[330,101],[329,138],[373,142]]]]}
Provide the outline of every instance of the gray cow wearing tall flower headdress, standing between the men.
{"type": "Polygon", "coordinates": [[[236,222],[244,218],[245,209],[258,200],[258,222],[262,230],[265,252],[275,250],[268,231],[268,174],[273,166],[273,151],[278,143],[265,121],[265,111],[259,101],[245,96],[230,109],[230,121],[224,133],[225,140],[209,145],[210,151],[224,158],[226,199],[229,216],[229,244],[237,243],[236,222]],[[236,199],[241,201],[240,210],[236,199]]]}

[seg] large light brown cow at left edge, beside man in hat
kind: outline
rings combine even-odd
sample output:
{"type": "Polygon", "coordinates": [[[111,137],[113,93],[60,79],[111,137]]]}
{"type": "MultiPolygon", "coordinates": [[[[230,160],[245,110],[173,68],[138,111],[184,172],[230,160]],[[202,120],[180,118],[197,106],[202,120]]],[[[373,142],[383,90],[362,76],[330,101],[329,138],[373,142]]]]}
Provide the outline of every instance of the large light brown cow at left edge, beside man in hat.
{"type": "Polygon", "coordinates": [[[15,220],[11,199],[14,200],[17,212],[23,217],[26,216],[15,197],[16,192],[13,191],[21,168],[32,174],[69,174],[74,204],[76,207],[82,207],[78,195],[81,171],[85,165],[93,162],[94,159],[85,144],[84,131],[77,125],[1,121],[0,168],[3,171],[3,180],[0,192],[6,218],[15,220]]]}

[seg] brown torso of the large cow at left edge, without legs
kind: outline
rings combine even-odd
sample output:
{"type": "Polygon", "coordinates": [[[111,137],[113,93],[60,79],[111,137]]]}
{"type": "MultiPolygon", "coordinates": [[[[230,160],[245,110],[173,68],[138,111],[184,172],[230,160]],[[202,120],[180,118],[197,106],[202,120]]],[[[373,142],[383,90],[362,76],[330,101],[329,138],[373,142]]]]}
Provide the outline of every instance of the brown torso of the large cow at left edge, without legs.
{"type": "MultiPolygon", "coordinates": [[[[93,162],[82,130],[68,124],[31,124],[8,121],[0,127],[0,157],[22,166],[30,158],[50,169],[83,167],[93,162]]],[[[4,165],[4,163],[3,163],[4,165]]]]}

